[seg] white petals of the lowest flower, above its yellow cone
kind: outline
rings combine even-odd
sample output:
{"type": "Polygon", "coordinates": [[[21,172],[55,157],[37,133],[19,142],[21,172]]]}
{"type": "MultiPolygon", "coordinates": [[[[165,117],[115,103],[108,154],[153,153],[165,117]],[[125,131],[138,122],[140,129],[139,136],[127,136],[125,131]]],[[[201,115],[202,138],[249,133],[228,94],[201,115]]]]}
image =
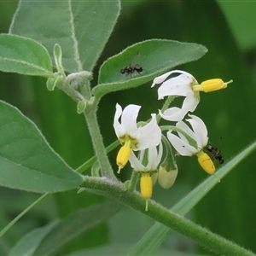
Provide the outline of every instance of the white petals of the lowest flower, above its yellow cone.
{"type": "Polygon", "coordinates": [[[155,172],[157,170],[157,167],[160,164],[162,155],[163,155],[163,145],[162,145],[162,143],[160,143],[159,149],[157,149],[157,147],[150,147],[147,150],[142,150],[140,152],[139,158],[137,158],[137,156],[133,152],[131,152],[129,161],[130,161],[131,167],[134,169],[134,171],[155,172]],[[146,156],[146,159],[148,161],[147,161],[147,165],[144,165],[143,160],[144,160],[146,151],[148,154],[146,156]]]}

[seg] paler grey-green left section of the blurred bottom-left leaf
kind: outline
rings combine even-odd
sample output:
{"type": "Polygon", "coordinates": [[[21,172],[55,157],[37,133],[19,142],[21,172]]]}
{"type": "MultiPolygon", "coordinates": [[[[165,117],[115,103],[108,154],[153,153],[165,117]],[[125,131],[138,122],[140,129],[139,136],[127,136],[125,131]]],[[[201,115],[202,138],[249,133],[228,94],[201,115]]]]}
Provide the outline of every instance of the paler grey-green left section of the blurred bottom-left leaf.
{"type": "Polygon", "coordinates": [[[22,236],[20,241],[15,244],[15,247],[9,252],[9,256],[15,255],[33,255],[38,248],[40,242],[44,239],[50,230],[52,230],[58,221],[49,223],[48,225],[32,230],[25,236],[22,236]]]}

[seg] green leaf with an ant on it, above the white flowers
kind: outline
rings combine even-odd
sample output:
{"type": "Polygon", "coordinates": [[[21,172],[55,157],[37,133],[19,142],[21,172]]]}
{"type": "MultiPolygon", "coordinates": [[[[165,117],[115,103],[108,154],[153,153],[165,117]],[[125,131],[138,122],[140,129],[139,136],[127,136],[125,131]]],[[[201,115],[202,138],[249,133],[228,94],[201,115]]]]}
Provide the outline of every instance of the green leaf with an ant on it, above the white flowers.
{"type": "Polygon", "coordinates": [[[196,61],[207,53],[201,44],[152,39],[133,44],[118,55],[105,61],[100,69],[99,81],[93,93],[101,97],[109,92],[134,88],[154,79],[173,67],[196,61]],[[139,65],[142,73],[120,73],[120,69],[139,65]]]}

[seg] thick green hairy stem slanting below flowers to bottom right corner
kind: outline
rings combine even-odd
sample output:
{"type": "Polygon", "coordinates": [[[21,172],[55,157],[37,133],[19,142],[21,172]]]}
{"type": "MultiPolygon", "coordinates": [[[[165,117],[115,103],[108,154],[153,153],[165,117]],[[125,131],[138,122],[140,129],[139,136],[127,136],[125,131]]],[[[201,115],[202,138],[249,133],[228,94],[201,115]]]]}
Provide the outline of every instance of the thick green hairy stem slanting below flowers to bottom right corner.
{"type": "Polygon", "coordinates": [[[201,244],[202,247],[207,247],[212,252],[222,255],[255,255],[247,249],[226,240],[224,237],[213,234],[211,231],[194,224],[188,219],[168,211],[154,201],[148,201],[148,212],[145,212],[145,200],[143,197],[137,192],[125,189],[122,183],[113,183],[113,181],[107,178],[86,177],[83,186],[88,189],[101,191],[102,194],[143,212],[161,224],[165,224],[170,229],[188,236],[201,244]]]}

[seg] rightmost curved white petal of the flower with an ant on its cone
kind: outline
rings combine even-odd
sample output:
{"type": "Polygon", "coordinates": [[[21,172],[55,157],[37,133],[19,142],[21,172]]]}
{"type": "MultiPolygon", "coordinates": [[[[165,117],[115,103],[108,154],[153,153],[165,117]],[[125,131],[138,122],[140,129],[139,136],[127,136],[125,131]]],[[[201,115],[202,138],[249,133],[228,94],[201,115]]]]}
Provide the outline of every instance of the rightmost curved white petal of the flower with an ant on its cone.
{"type": "Polygon", "coordinates": [[[189,124],[193,128],[193,131],[195,133],[195,140],[196,140],[197,146],[200,149],[202,149],[208,143],[207,126],[202,121],[202,119],[200,119],[199,117],[197,117],[197,116],[195,116],[193,114],[190,114],[189,117],[191,117],[191,119],[186,119],[186,120],[189,122],[189,124]]]}

